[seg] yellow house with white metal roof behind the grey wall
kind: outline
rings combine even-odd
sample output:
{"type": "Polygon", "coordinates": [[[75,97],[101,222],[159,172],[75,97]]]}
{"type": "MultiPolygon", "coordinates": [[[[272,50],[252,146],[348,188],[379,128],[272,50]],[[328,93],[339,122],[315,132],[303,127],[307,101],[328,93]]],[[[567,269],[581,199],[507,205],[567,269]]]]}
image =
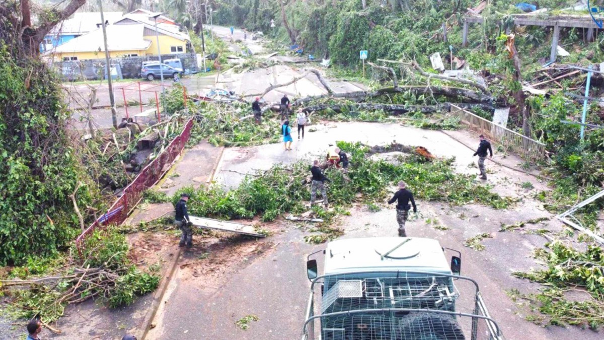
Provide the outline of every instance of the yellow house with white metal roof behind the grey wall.
{"type": "MultiPolygon", "coordinates": [[[[155,22],[146,16],[126,15],[106,27],[109,57],[156,56],[187,52],[189,37],[173,24],[155,22]]],[[[103,29],[91,31],[45,53],[55,61],[103,59],[103,29]]]]}

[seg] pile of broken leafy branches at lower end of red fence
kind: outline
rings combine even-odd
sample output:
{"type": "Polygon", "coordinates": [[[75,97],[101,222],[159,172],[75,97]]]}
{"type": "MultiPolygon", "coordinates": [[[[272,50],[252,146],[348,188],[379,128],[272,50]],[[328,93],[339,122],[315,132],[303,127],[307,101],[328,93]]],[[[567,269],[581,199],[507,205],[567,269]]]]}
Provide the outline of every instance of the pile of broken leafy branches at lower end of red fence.
{"type": "Polygon", "coordinates": [[[43,260],[41,266],[31,265],[37,267],[33,272],[29,266],[13,269],[15,275],[24,279],[17,284],[27,286],[27,289],[5,287],[13,316],[22,319],[40,316],[44,322],[53,322],[63,315],[67,304],[88,298],[106,302],[111,308],[128,306],[159,284],[156,272],[143,272],[130,262],[126,238],[117,229],[94,232],[86,238],[81,254],[75,247],[71,254],[58,262],[43,260]],[[48,266],[49,263],[53,266],[48,266]]]}

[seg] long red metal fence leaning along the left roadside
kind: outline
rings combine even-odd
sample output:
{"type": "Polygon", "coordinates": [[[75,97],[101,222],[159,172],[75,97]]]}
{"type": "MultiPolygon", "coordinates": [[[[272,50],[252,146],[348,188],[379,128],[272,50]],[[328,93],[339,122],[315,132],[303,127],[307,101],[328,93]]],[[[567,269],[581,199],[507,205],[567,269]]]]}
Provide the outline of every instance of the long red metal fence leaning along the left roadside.
{"type": "Polygon", "coordinates": [[[101,217],[97,218],[88,229],[76,239],[76,246],[79,252],[82,251],[83,241],[92,234],[97,227],[107,226],[108,224],[121,224],[126,221],[132,209],[137,206],[143,191],[151,188],[159,181],[159,179],[170,169],[172,162],[181,153],[189,137],[191,137],[191,128],[193,127],[193,119],[189,119],[185,124],[179,136],[170,142],[170,145],[159,154],[152,162],[143,168],[136,178],[123,191],[123,195],[118,198],[108,211],[101,217]]]}

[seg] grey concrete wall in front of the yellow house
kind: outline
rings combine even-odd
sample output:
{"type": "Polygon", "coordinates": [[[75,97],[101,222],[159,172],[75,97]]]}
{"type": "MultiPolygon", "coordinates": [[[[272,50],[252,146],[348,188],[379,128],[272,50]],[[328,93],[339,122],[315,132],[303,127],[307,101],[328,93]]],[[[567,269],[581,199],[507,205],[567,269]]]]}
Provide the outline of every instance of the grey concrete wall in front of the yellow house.
{"type": "MultiPolygon", "coordinates": [[[[101,56],[99,54],[99,56],[101,56]]],[[[182,61],[182,66],[187,71],[197,71],[197,60],[194,53],[181,53],[181,54],[162,54],[161,59],[175,59],[179,58],[182,61]]],[[[140,57],[127,57],[127,58],[111,58],[111,64],[120,64],[121,73],[124,78],[138,78],[141,73],[141,65],[143,61],[158,60],[157,56],[140,56],[140,57]]],[[[65,62],[54,62],[54,68],[62,75],[63,80],[83,80],[84,77],[88,80],[100,79],[103,74],[103,68],[105,67],[105,59],[91,59],[91,60],[74,60],[65,62]]]]}

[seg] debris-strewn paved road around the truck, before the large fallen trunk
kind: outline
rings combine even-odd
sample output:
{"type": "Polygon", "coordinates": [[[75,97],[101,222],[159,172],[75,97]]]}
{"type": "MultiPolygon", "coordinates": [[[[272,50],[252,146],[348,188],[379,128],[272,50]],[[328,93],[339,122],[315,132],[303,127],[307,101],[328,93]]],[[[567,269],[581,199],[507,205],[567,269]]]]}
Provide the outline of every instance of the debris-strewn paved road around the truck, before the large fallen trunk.
{"type": "MultiPolygon", "coordinates": [[[[281,151],[280,145],[263,145],[255,148],[227,148],[217,180],[226,186],[236,186],[241,177],[235,172],[251,172],[266,169],[273,163],[291,163],[297,159],[311,159],[313,154],[322,153],[327,142],[335,140],[359,140],[366,143],[388,143],[396,139],[400,143],[426,146],[437,156],[452,156],[459,172],[477,172],[468,168],[473,160],[472,151],[438,131],[403,128],[399,125],[377,123],[336,123],[338,127],[324,126],[318,132],[307,135],[304,142],[294,143],[298,151],[281,151]]],[[[452,132],[465,143],[476,142],[475,136],[461,131],[452,132]]],[[[521,163],[513,155],[497,158],[509,166],[521,163]]],[[[506,291],[536,292],[538,284],[520,280],[511,275],[516,270],[538,267],[532,257],[536,247],[542,247],[545,238],[521,232],[498,232],[501,223],[511,224],[537,217],[551,217],[542,204],[533,200],[532,192],[521,189],[519,183],[531,181],[534,191],[545,186],[533,177],[515,172],[493,163],[487,163],[495,174],[490,175],[494,191],[504,195],[522,197],[521,204],[514,209],[495,211],[469,204],[451,207],[443,203],[419,201],[422,218],[410,222],[408,232],[413,236],[439,240],[443,246],[458,249],[462,253],[462,273],[478,281],[484,299],[493,318],[499,322],[507,339],[601,339],[601,333],[580,330],[577,327],[549,327],[544,329],[525,321],[522,312],[508,298],[506,291]],[[448,230],[437,230],[426,224],[426,220],[438,220],[448,230]],[[483,232],[493,238],[483,240],[486,250],[478,252],[463,246],[464,240],[483,232]]],[[[412,188],[420,190],[420,188],[412,188]]],[[[345,230],[342,238],[394,236],[396,223],[394,208],[384,206],[382,211],[369,212],[364,206],[351,209],[352,215],[342,220],[345,230]]],[[[544,226],[557,232],[560,223],[551,221],[544,226]]],[[[187,334],[192,339],[295,339],[300,335],[303,323],[309,283],[305,278],[306,255],[322,246],[310,246],[303,242],[298,226],[280,223],[283,233],[263,242],[274,246],[262,255],[249,261],[231,263],[231,272],[222,280],[203,280],[213,271],[201,272],[197,280],[188,280],[180,275],[166,300],[164,310],[156,319],[160,326],[149,339],[179,339],[187,334]],[[240,330],[234,322],[245,315],[257,315],[259,321],[251,322],[247,331],[240,330]],[[187,333],[184,333],[188,331],[187,333]],[[194,332],[194,333],[189,333],[194,332]]],[[[204,249],[196,250],[196,254],[204,249]]],[[[207,250],[211,252],[211,250],[207,250]]],[[[191,255],[194,256],[194,255],[191,255]]],[[[242,254],[242,257],[246,256],[242,254]]],[[[231,261],[233,261],[231,259],[231,261]]],[[[229,266],[228,263],[225,266],[229,266]]],[[[184,273],[181,270],[181,274],[184,273]]],[[[467,285],[458,282],[461,290],[460,307],[469,311],[474,296],[467,285]]]]}

